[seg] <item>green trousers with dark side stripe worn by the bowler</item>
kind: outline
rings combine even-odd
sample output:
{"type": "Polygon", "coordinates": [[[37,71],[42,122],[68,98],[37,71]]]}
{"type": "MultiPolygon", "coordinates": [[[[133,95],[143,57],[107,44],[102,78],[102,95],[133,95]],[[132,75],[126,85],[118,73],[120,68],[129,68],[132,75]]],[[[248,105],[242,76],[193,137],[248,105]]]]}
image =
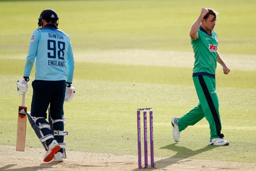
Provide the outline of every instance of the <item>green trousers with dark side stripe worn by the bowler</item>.
{"type": "Polygon", "coordinates": [[[223,138],[215,79],[199,75],[193,77],[193,81],[199,104],[178,120],[179,131],[185,130],[205,117],[210,124],[210,138],[223,138]]]}

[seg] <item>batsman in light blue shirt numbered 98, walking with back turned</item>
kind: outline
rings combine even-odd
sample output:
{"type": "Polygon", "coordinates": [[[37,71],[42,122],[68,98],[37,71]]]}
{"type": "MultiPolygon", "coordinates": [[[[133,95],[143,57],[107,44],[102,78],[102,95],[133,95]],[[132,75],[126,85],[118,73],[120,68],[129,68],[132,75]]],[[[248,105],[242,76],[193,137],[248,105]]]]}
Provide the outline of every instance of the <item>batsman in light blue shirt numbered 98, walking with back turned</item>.
{"type": "Polygon", "coordinates": [[[44,162],[52,159],[62,162],[66,158],[63,117],[64,101],[74,96],[72,86],[74,56],[70,37],[58,29],[58,15],[52,9],[43,10],[38,18],[38,28],[32,33],[23,79],[17,81],[20,94],[28,89],[29,76],[35,64],[33,96],[28,120],[46,149],[44,162]],[[47,119],[48,110],[48,121],[47,119]]]}

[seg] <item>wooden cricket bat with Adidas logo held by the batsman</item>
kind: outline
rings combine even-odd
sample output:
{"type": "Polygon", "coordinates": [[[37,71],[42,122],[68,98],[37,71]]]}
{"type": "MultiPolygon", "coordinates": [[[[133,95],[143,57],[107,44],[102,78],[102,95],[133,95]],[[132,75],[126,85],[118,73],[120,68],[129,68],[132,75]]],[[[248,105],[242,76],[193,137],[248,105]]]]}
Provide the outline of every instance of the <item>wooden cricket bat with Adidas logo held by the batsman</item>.
{"type": "Polygon", "coordinates": [[[25,93],[22,95],[22,103],[19,106],[16,151],[25,150],[27,107],[25,106],[25,93]]]}

